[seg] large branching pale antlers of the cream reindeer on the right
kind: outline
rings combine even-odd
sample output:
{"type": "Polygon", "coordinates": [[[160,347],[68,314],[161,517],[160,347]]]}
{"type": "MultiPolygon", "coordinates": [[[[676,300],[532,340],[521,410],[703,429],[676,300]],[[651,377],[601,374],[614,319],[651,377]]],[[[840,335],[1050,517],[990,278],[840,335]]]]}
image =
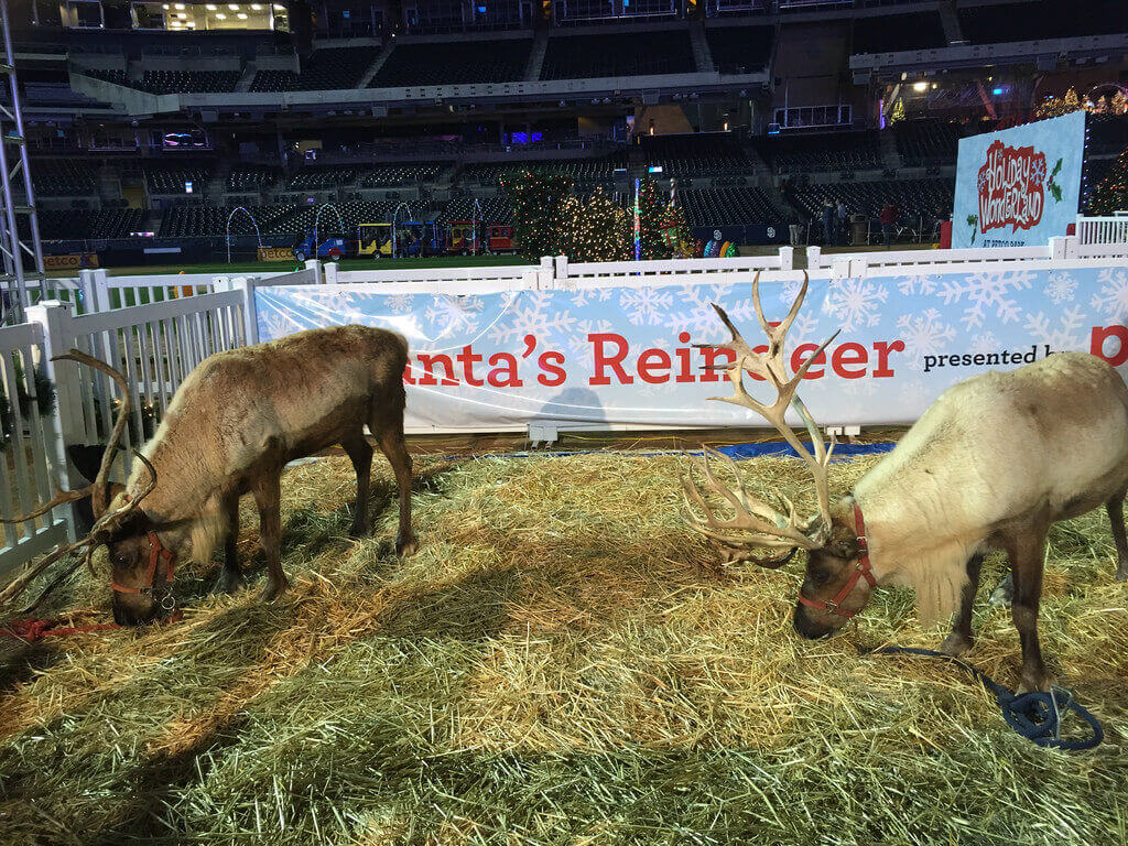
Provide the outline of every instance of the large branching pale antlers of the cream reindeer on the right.
{"type": "MultiPolygon", "coordinates": [[[[704,349],[729,349],[735,353],[735,359],[729,364],[706,365],[712,370],[725,370],[733,388],[733,394],[730,397],[710,397],[710,399],[750,408],[775,426],[784,437],[784,440],[787,441],[810,468],[811,475],[814,477],[814,490],[819,502],[818,515],[804,523],[799,523],[795,518],[795,506],[791,501],[783,497],[787,504],[787,514],[785,515],[765,502],[752,497],[744,488],[735,461],[715,450],[706,450],[705,458],[700,462],[706,483],[711,490],[720,493],[728,502],[734,512],[734,517],[731,520],[717,519],[706,504],[700,490],[693,484],[691,478],[684,478],[682,486],[686,490],[687,502],[696,504],[705,514],[704,520],[695,517],[696,525],[693,528],[721,544],[729,552],[730,561],[748,559],[761,566],[777,567],[782,566],[794,554],[796,548],[817,549],[822,546],[829,536],[830,488],[827,478],[827,466],[834,452],[835,440],[831,438],[829,447],[823,443],[822,437],[819,434],[818,424],[795,391],[808,368],[826,350],[827,345],[838,336],[838,333],[836,332],[827,338],[792,377],[787,376],[787,365],[783,353],[787,331],[791,328],[792,323],[794,323],[795,316],[803,305],[803,299],[807,297],[808,282],[808,275],[803,273],[803,285],[795,301],[792,303],[791,310],[787,311],[787,316],[777,326],[773,326],[764,317],[764,309],[760,305],[760,274],[757,272],[752,281],[752,306],[756,309],[756,317],[760,321],[760,327],[768,336],[768,349],[766,352],[755,352],[744,338],[741,337],[740,332],[732,324],[732,320],[729,319],[729,315],[716,303],[713,303],[713,308],[716,310],[721,321],[724,323],[725,327],[732,334],[732,340],[728,344],[695,344],[695,346],[704,349]],[[774,403],[760,403],[748,394],[744,388],[746,370],[760,377],[775,388],[776,399],[774,403]],[[788,406],[793,407],[803,421],[803,425],[811,437],[811,443],[814,449],[813,455],[808,451],[792,428],[785,422],[784,415],[788,406]],[[710,455],[720,456],[730,465],[730,469],[737,478],[735,490],[729,490],[717,482],[710,467],[710,455]],[[757,559],[741,553],[739,548],[734,548],[741,545],[787,549],[788,553],[785,556],[777,556],[775,558],[757,559]]],[[[690,512],[693,513],[693,509],[690,509],[690,512]]]]}

